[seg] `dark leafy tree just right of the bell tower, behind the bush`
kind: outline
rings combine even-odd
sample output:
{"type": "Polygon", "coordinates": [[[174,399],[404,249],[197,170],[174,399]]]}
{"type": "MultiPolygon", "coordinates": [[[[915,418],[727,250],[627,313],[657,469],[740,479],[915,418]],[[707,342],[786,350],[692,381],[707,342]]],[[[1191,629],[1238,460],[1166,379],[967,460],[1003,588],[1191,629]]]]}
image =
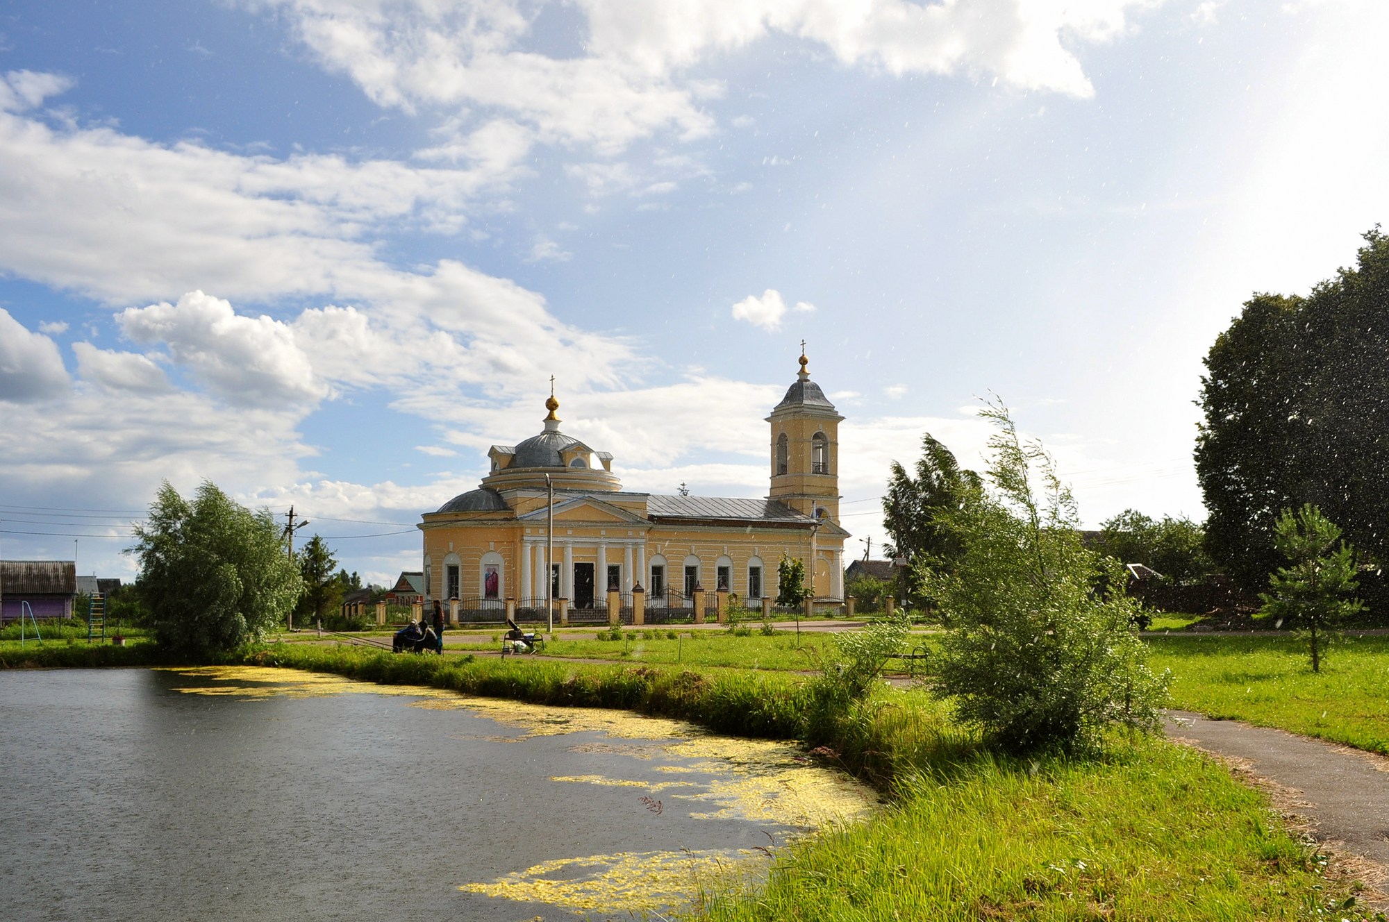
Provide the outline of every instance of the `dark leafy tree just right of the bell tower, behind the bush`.
{"type": "Polygon", "coordinates": [[[906,558],[906,567],[897,571],[899,593],[924,601],[921,582],[914,573],[921,572],[921,567],[949,569],[960,553],[960,536],[943,525],[942,517],[978,487],[979,475],[961,469],[954,453],[929,432],[921,437],[915,476],[896,461],[889,471],[882,523],[892,544],[883,553],[906,558]]]}

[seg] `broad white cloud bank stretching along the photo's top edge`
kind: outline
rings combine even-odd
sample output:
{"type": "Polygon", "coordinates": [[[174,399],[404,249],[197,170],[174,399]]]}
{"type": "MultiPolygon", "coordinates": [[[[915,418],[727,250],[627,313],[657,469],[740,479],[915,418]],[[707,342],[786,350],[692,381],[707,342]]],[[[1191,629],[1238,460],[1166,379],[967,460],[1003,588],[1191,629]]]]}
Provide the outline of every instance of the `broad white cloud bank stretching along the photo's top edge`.
{"type": "MultiPolygon", "coordinates": [[[[906,74],[995,75],[1025,90],[1090,96],[1071,47],[1132,28],[1163,0],[576,0],[583,54],[532,47],[536,4],[521,0],[244,0],[282,14],[333,72],[379,106],[482,112],[546,143],[621,151],[660,132],[713,131],[701,108],[722,85],[693,76],[715,54],[774,33],[842,64],[906,74]]],[[[447,150],[447,146],[440,149],[447,150]]]]}

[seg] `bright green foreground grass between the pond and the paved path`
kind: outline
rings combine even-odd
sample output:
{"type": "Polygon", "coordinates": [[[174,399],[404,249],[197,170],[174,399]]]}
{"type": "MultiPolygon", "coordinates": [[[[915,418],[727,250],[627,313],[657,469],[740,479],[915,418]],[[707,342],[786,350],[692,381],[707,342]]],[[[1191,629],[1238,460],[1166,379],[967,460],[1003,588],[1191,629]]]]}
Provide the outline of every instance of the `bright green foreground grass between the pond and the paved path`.
{"type": "MultiPolygon", "coordinates": [[[[1304,919],[1336,905],[1261,794],[1158,740],[1103,762],[975,754],[776,857],[707,919],[1304,919]]],[[[1343,911],[1329,918],[1357,918],[1343,911]]]]}

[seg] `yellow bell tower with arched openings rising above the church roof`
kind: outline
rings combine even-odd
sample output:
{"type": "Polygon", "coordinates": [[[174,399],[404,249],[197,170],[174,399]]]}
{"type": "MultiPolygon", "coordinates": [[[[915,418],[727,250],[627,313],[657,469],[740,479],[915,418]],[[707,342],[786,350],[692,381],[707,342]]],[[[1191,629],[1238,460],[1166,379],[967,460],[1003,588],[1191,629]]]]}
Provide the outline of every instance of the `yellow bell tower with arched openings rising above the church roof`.
{"type": "Polygon", "coordinates": [[[800,371],[767,417],[771,424],[771,496],[804,515],[839,521],[839,424],[820,385],[810,379],[801,343],[800,371]]]}

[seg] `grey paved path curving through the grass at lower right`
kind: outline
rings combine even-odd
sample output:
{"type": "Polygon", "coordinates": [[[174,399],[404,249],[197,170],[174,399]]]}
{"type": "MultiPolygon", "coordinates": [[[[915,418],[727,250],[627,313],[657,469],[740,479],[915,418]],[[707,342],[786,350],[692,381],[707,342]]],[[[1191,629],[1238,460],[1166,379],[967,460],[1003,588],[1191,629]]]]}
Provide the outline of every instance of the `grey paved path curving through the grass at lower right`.
{"type": "Polygon", "coordinates": [[[1167,735],[1240,760],[1282,789],[1275,800],[1306,816],[1318,841],[1389,869],[1389,758],[1186,711],[1167,712],[1167,735]]]}

